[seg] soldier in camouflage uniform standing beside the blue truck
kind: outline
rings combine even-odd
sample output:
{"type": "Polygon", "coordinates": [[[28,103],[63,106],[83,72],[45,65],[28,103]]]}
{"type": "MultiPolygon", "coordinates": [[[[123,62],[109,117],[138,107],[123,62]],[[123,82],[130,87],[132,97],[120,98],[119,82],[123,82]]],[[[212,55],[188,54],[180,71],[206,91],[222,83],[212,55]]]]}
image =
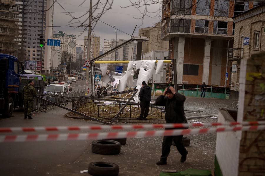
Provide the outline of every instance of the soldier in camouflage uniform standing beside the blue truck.
{"type": "Polygon", "coordinates": [[[37,92],[33,87],[34,81],[29,80],[29,84],[23,87],[22,99],[24,99],[24,118],[32,119],[31,111],[33,108],[34,98],[37,96],[37,92]]]}

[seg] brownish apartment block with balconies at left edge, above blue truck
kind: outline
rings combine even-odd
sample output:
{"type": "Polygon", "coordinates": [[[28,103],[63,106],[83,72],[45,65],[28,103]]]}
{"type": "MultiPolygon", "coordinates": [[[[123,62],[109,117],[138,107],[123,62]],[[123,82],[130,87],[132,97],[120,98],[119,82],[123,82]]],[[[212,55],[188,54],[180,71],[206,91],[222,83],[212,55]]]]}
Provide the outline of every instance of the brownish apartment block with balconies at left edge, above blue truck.
{"type": "Polygon", "coordinates": [[[15,0],[0,1],[0,50],[17,56],[21,40],[19,31],[19,6],[15,0]]]}

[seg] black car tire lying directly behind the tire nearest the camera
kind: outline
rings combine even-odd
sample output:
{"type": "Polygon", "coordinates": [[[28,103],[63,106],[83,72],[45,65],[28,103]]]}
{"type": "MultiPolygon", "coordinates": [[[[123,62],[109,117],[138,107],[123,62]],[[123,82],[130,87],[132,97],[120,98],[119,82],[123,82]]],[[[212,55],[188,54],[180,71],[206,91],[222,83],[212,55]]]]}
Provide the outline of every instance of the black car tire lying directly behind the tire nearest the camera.
{"type": "Polygon", "coordinates": [[[112,140],[95,140],[92,142],[92,152],[101,155],[117,155],[120,153],[120,143],[112,140]]]}

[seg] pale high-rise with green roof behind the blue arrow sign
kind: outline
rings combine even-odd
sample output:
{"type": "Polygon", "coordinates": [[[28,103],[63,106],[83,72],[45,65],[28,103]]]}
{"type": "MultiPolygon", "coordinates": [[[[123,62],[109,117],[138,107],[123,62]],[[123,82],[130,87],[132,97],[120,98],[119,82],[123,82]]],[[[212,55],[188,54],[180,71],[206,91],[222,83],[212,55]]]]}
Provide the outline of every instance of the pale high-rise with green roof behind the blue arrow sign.
{"type": "MultiPolygon", "coordinates": [[[[57,33],[53,34],[53,39],[60,40],[61,44],[60,46],[52,46],[53,50],[60,50],[63,52],[68,52],[69,56],[72,56],[71,61],[76,61],[76,47],[71,48],[68,43],[74,40],[76,42],[76,36],[67,34],[64,31],[58,31],[57,33]],[[63,44],[67,43],[67,44],[63,44]]],[[[69,58],[67,58],[69,59],[69,58]]]]}

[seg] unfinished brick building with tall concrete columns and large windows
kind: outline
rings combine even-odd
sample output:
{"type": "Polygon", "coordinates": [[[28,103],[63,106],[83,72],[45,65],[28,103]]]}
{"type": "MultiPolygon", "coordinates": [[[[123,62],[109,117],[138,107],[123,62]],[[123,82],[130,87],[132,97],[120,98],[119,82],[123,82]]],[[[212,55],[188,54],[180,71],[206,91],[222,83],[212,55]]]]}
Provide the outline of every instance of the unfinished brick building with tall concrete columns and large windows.
{"type": "MultiPolygon", "coordinates": [[[[169,41],[169,58],[177,60],[178,84],[225,85],[232,17],[259,5],[253,1],[163,1],[161,39],[169,41]]],[[[229,48],[233,47],[233,41],[229,48]]],[[[231,79],[228,62],[228,81],[231,79]]]]}

